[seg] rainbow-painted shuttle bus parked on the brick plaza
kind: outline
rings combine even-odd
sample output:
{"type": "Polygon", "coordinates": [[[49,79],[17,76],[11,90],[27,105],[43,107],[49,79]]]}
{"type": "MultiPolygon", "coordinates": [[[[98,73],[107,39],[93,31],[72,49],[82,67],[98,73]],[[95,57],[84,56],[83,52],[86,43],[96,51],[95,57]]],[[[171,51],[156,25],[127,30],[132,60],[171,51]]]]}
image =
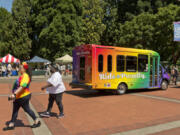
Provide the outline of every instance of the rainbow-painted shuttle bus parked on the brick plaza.
{"type": "Polygon", "coordinates": [[[73,50],[72,88],[115,90],[168,88],[170,77],[151,50],[81,45],[73,50]]]}

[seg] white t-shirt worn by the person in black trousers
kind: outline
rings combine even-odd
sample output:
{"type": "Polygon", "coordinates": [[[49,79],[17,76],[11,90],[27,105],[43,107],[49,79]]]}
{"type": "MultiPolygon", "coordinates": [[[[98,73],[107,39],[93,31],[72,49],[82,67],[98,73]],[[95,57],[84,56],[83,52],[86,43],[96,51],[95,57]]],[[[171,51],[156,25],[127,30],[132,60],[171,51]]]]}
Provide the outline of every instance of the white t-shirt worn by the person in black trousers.
{"type": "Polygon", "coordinates": [[[66,90],[59,72],[53,73],[47,82],[53,85],[52,87],[47,88],[47,92],[50,94],[58,94],[66,90]]]}

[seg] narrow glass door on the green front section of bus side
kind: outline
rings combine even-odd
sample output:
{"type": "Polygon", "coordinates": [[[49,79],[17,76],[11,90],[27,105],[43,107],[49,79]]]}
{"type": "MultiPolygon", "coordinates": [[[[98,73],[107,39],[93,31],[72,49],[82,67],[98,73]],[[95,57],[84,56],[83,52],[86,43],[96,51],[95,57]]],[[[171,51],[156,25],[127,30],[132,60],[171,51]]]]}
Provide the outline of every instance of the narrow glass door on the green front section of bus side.
{"type": "Polygon", "coordinates": [[[158,57],[150,56],[150,87],[158,87],[158,57]]]}

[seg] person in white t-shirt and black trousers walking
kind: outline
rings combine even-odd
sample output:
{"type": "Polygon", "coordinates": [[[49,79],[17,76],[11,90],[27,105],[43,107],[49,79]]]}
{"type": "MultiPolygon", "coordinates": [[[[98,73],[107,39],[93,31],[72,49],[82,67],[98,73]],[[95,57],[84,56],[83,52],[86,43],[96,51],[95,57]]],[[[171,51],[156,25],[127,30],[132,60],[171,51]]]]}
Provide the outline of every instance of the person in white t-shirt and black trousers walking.
{"type": "Polygon", "coordinates": [[[58,118],[61,118],[64,117],[62,96],[66,88],[62,81],[61,74],[58,71],[58,67],[56,65],[51,65],[50,70],[52,72],[52,75],[47,80],[47,84],[41,88],[42,90],[47,89],[47,92],[49,93],[48,108],[46,112],[40,115],[44,117],[50,117],[53,103],[54,101],[56,101],[56,104],[58,105],[60,111],[58,118]]]}

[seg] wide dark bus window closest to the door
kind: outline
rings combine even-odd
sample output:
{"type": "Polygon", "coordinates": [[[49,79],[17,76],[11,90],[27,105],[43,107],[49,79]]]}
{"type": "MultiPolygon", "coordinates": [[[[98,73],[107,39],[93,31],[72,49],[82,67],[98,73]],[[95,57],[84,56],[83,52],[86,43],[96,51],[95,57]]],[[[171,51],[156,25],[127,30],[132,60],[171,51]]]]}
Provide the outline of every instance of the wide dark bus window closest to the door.
{"type": "Polygon", "coordinates": [[[148,72],[148,55],[138,55],[138,71],[148,72]]]}

